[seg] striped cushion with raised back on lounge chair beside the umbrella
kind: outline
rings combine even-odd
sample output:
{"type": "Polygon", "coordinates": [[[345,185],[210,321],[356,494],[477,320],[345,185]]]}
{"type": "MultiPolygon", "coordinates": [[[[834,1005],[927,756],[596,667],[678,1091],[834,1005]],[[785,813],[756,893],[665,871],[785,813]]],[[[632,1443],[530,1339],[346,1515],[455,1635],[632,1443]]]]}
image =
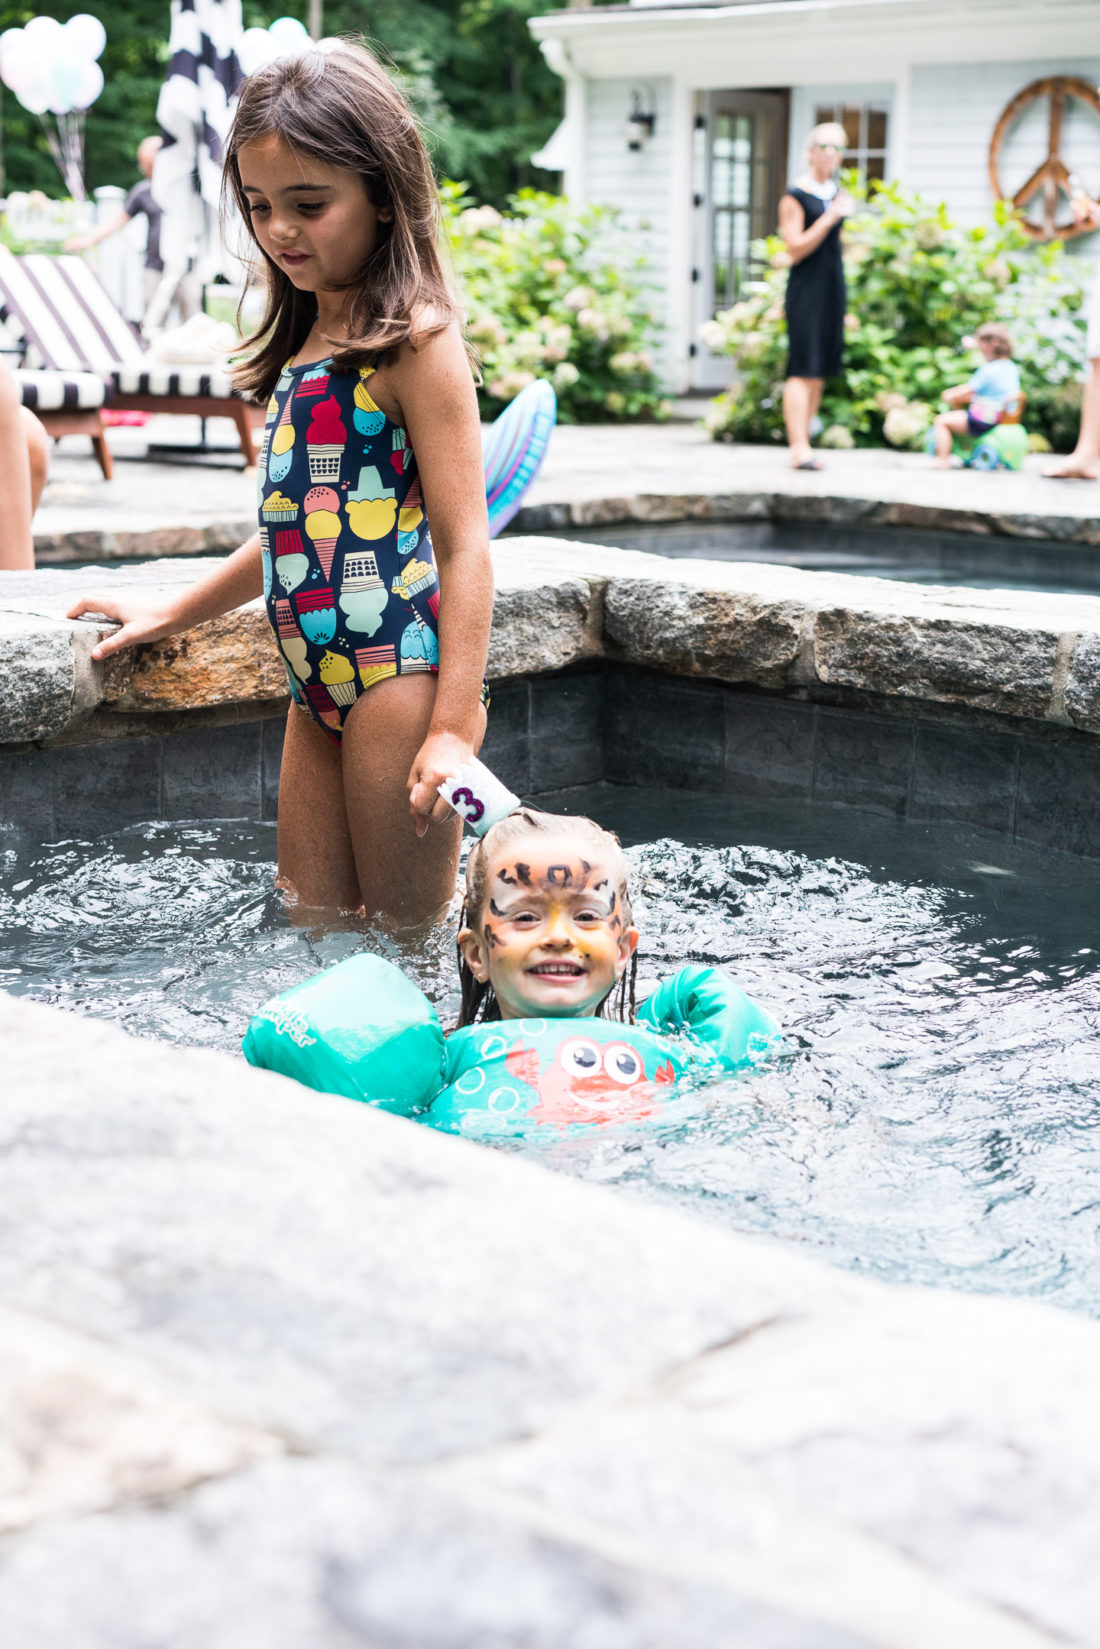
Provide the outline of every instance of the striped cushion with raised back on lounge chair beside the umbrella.
{"type": "Polygon", "coordinates": [[[221,366],[162,366],[150,358],[82,257],[15,257],[0,247],[0,318],[25,343],[30,368],[96,373],[122,394],[233,394],[221,366]]]}

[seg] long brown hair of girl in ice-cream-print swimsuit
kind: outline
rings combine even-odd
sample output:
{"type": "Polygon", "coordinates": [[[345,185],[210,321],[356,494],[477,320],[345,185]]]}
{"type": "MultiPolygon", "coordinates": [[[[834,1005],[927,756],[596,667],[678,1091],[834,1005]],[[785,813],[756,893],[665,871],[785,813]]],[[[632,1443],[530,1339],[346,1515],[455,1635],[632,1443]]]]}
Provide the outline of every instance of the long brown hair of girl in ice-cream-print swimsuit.
{"type": "MultiPolygon", "coordinates": [[[[325,338],[338,368],[381,364],[417,328],[442,331],[460,313],[442,254],[439,190],[412,110],[381,63],[358,41],[341,40],[279,58],[251,74],[226,142],[223,201],[251,224],[241,186],[239,153],[262,137],[327,167],[363,178],[368,200],[393,214],[379,223],[379,241],[350,282],[346,338],[325,338]]],[[[254,237],[252,237],[254,239],[254,237]]],[[[267,265],[267,308],[234,371],[241,394],[266,401],[287,361],[300,350],[317,300],[299,292],[285,270],[257,246],[267,265]]]]}

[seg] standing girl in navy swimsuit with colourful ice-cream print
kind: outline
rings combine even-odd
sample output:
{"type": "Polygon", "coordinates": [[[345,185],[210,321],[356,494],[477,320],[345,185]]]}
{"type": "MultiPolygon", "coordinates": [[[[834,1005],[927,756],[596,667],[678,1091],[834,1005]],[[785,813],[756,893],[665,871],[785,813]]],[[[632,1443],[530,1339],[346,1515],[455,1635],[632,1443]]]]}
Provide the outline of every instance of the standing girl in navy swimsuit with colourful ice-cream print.
{"type": "Polygon", "coordinates": [[[267,401],[259,533],[165,607],[92,594],[71,617],[120,622],[109,658],[262,592],[294,696],[280,879],[305,905],[421,922],[455,886],[462,823],[437,787],[482,742],[493,602],[432,168],[394,84],[341,41],[244,82],[226,191],[267,274],[236,371],[267,401]]]}

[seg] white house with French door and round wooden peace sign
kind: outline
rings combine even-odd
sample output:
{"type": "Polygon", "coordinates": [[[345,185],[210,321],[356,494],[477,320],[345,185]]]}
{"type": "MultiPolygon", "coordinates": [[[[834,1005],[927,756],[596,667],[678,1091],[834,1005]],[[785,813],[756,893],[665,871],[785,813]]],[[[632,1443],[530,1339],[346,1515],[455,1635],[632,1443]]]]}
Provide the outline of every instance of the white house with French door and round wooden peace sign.
{"type": "MultiPolygon", "coordinates": [[[[818,120],[961,221],[991,214],[998,125],[1001,193],[1026,191],[1041,233],[1072,221],[1070,191],[1100,195],[1100,0],[628,0],[531,30],[566,84],[543,163],[646,228],[675,389],[727,381],[699,325],[752,277],[818,120]]],[[[1100,234],[1070,247],[1100,256],[1100,234]]]]}

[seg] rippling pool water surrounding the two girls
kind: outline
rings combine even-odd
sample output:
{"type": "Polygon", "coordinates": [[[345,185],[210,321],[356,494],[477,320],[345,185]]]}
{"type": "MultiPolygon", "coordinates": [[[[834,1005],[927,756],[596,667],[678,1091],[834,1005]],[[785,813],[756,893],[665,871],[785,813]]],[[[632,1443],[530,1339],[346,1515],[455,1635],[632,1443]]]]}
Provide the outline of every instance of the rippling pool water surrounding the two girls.
{"type": "MultiPolygon", "coordinates": [[[[788,1049],[689,1123],[521,1149],[869,1275],[1100,1316],[1100,866],[803,803],[557,801],[630,844],[640,983],[726,966],[788,1049]]],[[[236,1050],[262,999],[369,943],[454,1012],[454,927],[295,927],[272,861],[259,824],[3,831],[0,986],[236,1050]]]]}

